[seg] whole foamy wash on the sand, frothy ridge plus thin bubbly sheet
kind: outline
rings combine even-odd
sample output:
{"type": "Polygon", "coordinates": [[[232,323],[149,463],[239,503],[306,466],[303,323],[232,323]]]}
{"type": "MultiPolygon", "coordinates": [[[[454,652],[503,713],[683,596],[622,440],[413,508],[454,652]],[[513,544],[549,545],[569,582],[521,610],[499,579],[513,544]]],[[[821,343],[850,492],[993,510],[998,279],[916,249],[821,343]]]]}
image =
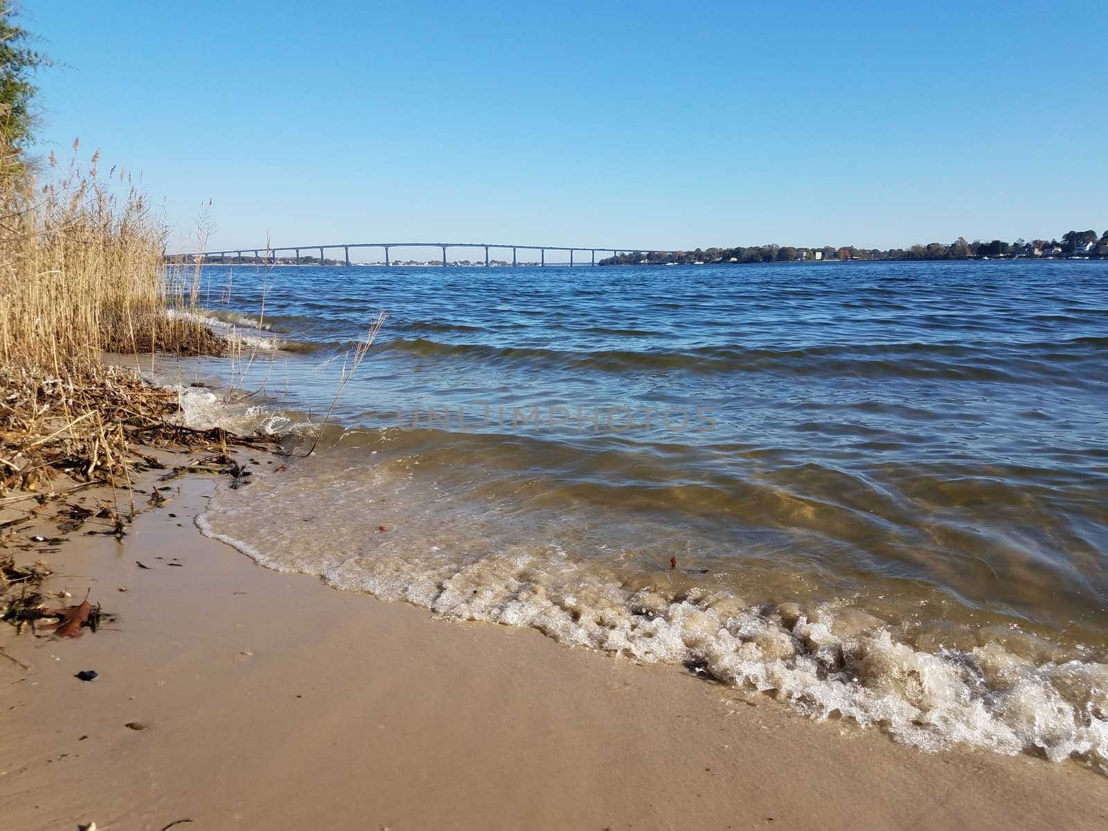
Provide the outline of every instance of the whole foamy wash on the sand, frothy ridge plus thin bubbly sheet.
{"type": "Polygon", "coordinates": [[[380,468],[261,472],[247,489],[222,489],[198,524],[270,568],[685,665],[817,719],[880,725],[924,750],[966,742],[1076,756],[1108,772],[1108,665],[1013,648],[1006,634],[1023,642],[1007,627],[973,632],[970,648],[929,652],[847,602],[803,608],[747,601],[718,584],[633,584],[561,545],[506,541],[486,517],[451,513],[441,494],[380,468]],[[377,533],[382,519],[401,531],[377,533]]]}

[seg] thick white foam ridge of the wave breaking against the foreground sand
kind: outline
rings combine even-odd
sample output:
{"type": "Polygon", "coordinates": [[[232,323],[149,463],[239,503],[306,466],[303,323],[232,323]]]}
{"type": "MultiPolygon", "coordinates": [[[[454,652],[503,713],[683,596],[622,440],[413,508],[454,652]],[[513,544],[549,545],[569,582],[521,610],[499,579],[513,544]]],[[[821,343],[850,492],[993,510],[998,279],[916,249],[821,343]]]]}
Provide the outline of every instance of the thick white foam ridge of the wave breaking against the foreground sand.
{"type": "MultiPolygon", "coordinates": [[[[206,514],[196,524],[259,565],[298,573],[215,531],[206,514]]],[[[962,742],[1051,761],[1076,757],[1108,773],[1104,664],[1036,664],[995,640],[932,654],[899,643],[883,622],[844,604],[798,614],[790,604],[749,606],[733,597],[669,602],[565,575],[566,588],[553,592],[529,579],[535,565],[527,555],[491,555],[435,585],[421,583],[418,574],[381,579],[342,567],[319,576],[338,589],[406,601],[448,618],[533,627],[571,646],[685,665],[771,694],[817,720],[880,726],[921,750],[962,742]]]]}

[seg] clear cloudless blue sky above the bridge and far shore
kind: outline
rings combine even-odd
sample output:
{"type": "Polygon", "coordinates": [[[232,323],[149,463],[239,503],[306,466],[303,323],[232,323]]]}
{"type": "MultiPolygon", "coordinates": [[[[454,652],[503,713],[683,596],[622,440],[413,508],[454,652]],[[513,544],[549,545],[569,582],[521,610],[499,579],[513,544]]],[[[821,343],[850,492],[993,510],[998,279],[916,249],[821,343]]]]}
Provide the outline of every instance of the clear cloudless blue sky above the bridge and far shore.
{"type": "Polygon", "coordinates": [[[907,246],[1108,227],[1094,2],[45,0],[38,152],[211,248],[907,246]]]}

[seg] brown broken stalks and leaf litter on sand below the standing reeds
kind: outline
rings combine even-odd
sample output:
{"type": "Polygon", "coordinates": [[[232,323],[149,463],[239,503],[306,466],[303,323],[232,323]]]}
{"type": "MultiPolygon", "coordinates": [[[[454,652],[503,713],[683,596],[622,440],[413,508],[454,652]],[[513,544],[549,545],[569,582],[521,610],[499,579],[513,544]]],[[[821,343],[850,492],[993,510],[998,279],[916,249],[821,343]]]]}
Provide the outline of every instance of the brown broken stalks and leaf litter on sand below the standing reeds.
{"type": "MultiPolygon", "coordinates": [[[[80,637],[114,619],[88,595],[74,605],[52,602],[70,595],[43,588],[51,571],[42,555],[57,551],[45,546],[61,545],[65,535],[74,533],[122,540],[140,511],[164,507],[173,500],[177,488],[167,483],[174,479],[189,473],[227,475],[232,488],[240,488],[250,482],[253,472],[235,459],[235,450],[257,454],[277,447],[260,435],[235,435],[218,428],[192,430],[172,421],[177,412],[175,392],[150,387],[124,370],[93,372],[83,383],[0,370],[0,618],[17,634],[30,628],[34,634],[80,637]],[[192,458],[167,469],[152,454],[158,450],[192,458]],[[137,507],[135,494],[147,492],[135,481],[156,470],[165,473],[137,507]],[[111,501],[80,495],[94,485],[111,486],[111,501]],[[31,527],[40,529],[42,521],[57,523],[57,535],[19,533],[25,523],[35,522],[31,527]],[[18,564],[16,551],[38,560],[18,564]]],[[[25,668],[2,649],[0,654],[25,668]]]]}

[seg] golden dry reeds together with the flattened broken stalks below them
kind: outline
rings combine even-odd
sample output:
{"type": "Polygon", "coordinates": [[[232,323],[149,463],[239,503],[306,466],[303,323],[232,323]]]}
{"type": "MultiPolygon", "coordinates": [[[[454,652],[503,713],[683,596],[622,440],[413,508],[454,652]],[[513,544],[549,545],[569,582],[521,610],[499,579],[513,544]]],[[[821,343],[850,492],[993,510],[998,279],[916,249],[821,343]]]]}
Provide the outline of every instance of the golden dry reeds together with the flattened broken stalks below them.
{"type": "Polygon", "coordinates": [[[198,270],[171,273],[164,226],[131,177],[98,170],[0,178],[0,495],[59,472],[130,482],[135,431],[175,396],[106,370],[104,352],[222,353],[195,315],[198,270]]]}

